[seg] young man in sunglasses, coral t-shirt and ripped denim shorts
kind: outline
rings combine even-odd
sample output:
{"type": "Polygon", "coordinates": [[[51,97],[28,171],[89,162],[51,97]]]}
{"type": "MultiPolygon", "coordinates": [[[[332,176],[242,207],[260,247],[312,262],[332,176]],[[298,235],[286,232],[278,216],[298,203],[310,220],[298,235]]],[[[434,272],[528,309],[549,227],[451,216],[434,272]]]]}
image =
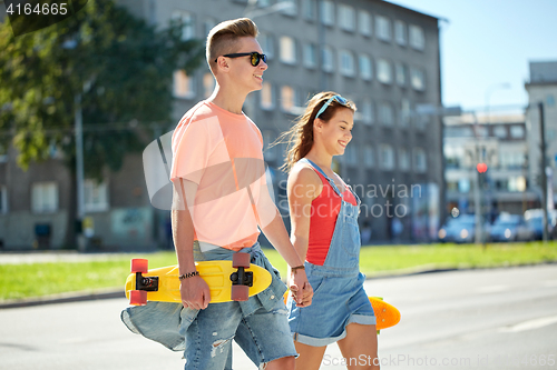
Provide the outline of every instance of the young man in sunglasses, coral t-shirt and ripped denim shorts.
{"type": "Polygon", "coordinates": [[[255,23],[246,18],[209,32],[206,56],[215,90],[184,114],[173,134],[172,222],[183,307],[149,302],[123,313],[133,331],[170,349],[185,344],[186,369],[232,369],[233,339],[258,367],[294,369],[296,351],[282,298],[286,287],[257,243],[257,226],[291,267],[289,284],[300,307],[311,304],[313,294],[268,194],[261,132],[242,112],[267,69],[256,36],[255,23]],[[271,272],[271,287],[244,302],[209,304],[211,292],[195,261],[229,260],[238,251],[271,272]],[[164,313],[145,327],[155,311],[164,313]],[[172,333],[178,328],[185,343],[172,333]]]}

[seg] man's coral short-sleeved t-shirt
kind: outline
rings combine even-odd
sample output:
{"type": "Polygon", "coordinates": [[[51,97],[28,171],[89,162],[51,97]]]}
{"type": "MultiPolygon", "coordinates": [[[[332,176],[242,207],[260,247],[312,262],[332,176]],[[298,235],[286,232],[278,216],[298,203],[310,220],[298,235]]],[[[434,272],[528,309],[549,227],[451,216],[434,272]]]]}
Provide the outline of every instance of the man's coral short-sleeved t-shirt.
{"type": "Polygon", "coordinates": [[[252,247],[260,233],[257,206],[267,192],[263,138],[255,123],[202,101],[180,119],[172,150],[170,180],[198,184],[188,204],[195,239],[232,250],[252,247]]]}

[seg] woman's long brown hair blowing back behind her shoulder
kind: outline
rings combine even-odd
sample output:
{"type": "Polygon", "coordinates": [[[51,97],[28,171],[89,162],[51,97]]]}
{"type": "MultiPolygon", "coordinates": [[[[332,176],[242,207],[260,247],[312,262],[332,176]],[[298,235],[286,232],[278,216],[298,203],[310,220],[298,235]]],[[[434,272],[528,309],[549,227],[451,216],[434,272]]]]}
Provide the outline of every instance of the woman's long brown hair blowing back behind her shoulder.
{"type": "MultiPolygon", "coordinates": [[[[287,144],[285,162],[281,167],[281,170],[290,172],[299,160],[307,156],[313,147],[313,121],[315,120],[315,116],[317,116],[319,110],[333,96],[338,96],[338,93],[334,91],[326,91],[313,96],[307,102],[304,113],[294,121],[294,126],[292,126],[289,131],[283,132],[275,142],[273,142],[272,146],[278,143],[287,144]]],[[[356,110],[354,102],[351,100],[348,100],[346,104],[341,104],[336,100],[333,100],[319,118],[329,122],[340,108],[348,108],[353,112],[356,110]]]]}

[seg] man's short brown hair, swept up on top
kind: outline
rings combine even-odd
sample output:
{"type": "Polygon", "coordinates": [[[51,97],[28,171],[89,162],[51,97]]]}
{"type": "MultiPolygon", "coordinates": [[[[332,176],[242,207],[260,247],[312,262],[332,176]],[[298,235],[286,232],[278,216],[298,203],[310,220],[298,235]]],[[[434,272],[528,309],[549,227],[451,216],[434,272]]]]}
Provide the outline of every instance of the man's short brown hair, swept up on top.
{"type": "Polygon", "coordinates": [[[236,52],[240,38],[257,37],[257,26],[250,18],[227,20],[215,26],[207,36],[205,53],[213,74],[216,72],[215,59],[236,52]]]}

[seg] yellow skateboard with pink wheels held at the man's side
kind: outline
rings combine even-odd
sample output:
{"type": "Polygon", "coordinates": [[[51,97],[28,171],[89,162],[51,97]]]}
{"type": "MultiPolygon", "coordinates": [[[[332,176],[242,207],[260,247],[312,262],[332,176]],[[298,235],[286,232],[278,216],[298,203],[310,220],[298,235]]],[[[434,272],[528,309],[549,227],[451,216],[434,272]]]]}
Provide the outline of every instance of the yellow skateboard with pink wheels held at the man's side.
{"type": "MultiPolygon", "coordinates": [[[[211,303],[246,301],[271,284],[271,273],[250,263],[250,253],[234,253],[232,261],[195,262],[199,276],[211,290],[211,303]]],[[[126,280],[129,304],[147,301],[182,302],[178,267],[147,269],[146,259],[131,260],[131,273],[126,280]]]]}

